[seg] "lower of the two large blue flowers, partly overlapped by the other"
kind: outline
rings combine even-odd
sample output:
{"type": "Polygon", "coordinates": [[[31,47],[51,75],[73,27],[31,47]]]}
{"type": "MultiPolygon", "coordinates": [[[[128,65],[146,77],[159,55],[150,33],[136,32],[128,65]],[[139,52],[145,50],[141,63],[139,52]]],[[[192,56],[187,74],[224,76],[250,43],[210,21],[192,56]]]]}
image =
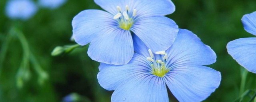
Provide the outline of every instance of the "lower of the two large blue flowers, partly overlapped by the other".
{"type": "Polygon", "coordinates": [[[100,64],[98,82],[114,90],[112,102],[169,102],[166,85],[178,101],[199,102],[220,85],[220,72],[203,66],[214,63],[216,54],[191,31],[180,29],[172,46],[156,54],[134,40],[128,64],[100,64]]]}

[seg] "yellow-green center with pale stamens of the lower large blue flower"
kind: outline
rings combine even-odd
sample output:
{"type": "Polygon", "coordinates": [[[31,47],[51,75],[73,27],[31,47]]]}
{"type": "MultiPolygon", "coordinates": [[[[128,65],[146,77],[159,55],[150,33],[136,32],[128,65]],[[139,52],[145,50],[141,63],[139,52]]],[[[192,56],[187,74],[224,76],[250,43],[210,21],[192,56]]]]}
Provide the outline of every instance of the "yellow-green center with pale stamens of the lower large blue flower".
{"type": "Polygon", "coordinates": [[[156,59],[154,58],[151,49],[148,49],[148,52],[150,57],[147,57],[146,59],[150,62],[150,67],[152,68],[151,73],[158,77],[164,77],[164,75],[170,71],[169,69],[166,69],[166,60],[168,59],[167,53],[165,51],[156,52],[156,54],[161,55],[161,59],[156,59]]]}

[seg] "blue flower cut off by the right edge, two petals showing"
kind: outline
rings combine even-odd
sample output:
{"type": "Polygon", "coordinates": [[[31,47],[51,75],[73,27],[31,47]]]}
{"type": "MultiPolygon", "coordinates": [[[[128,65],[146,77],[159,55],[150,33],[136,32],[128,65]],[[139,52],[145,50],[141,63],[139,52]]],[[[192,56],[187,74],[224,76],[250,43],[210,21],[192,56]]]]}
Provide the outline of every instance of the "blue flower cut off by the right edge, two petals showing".
{"type": "MultiPolygon", "coordinates": [[[[242,18],[244,29],[256,35],[256,12],[246,14],[242,18]]],[[[230,41],[227,45],[228,53],[242,67],[256,73],[256,38],[240,38],[230,41]]]]}

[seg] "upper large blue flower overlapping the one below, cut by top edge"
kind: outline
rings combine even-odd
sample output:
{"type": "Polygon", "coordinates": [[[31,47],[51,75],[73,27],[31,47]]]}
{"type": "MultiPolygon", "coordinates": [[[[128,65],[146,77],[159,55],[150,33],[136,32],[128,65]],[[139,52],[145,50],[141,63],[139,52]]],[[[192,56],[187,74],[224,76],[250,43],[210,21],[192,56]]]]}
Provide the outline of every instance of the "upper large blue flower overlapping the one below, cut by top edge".
{"type": "Polygon", "coordinates": [[[90,43],[88,55],[95,61],[124,65],[134,54],[132,35],[148,48],[168,49],[176,35],[176,23],[164,17],[175,10],[170,0],[94,0],[104,10],[84,10],[72,21],[75,41],[90,43]]]}

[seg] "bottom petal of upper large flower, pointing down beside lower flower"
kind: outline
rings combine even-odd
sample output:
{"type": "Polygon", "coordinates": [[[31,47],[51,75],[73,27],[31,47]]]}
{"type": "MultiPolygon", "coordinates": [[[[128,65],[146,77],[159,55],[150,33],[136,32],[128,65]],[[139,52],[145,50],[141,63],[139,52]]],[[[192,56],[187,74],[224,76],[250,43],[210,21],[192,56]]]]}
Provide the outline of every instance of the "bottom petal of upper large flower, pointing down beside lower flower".
{"type": "Polygon", "coordinates": [[[108,29],[92,40],[88,55],[95,61],[113,64],[127,64],[134,54],[132,35],[130,31],[119,28],[108,29]]]}

